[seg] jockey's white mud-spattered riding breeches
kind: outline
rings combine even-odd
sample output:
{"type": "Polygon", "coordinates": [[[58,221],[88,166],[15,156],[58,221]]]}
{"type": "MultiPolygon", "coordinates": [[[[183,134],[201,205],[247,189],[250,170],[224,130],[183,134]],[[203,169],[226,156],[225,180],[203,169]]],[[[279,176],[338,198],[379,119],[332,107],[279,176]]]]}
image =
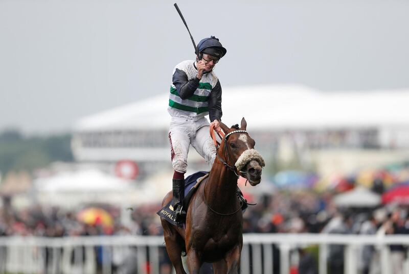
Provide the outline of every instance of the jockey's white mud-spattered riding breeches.
{"type": "Polygon", "coordinates": [[[169,129],[169,141],[173,169],[185,173],[188,167],[189,147],[212,166],[216,158],[216,147],[209,134],[209,122],[206,118],[197,121],[172,117],[169,129]]]}

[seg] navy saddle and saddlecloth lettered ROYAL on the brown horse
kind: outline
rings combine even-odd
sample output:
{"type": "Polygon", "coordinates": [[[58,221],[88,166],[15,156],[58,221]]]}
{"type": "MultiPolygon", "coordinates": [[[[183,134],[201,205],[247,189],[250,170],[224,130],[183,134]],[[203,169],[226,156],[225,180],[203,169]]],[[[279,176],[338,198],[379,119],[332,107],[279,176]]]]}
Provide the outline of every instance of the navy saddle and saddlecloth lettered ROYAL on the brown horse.
{"type": "MultiPolygon", "coordinates": [[[[209,172],[207,171],[198,171],[193,173],[192,175],[186,177],[185,179],[185,198],[183,200],[183,207],[188,208],[189,202],[199,188],[201,182],[207,180],[209,177],[209,172]]],[[[240,191],[239,187],[237,187],[237,198],[240,203],[241,210],[244,212],[247,208],[247,200],[245,200],[243,193],[240,191]]],[[[180,223],[175,221],[175,212],[172,207],[172,201],[170,201],[166,206],[164,206],[161,210],[156,212],[157,215],[164,218],[168,222],[170,222],[174,226],[180,226],[180,223]]]]}

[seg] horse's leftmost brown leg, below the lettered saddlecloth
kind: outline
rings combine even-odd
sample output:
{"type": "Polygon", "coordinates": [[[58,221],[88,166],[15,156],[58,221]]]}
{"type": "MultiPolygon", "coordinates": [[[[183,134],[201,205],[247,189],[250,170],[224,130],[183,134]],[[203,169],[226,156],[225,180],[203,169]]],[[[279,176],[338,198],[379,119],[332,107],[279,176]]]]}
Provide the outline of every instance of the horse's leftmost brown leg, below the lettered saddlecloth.
{"type": "Polygon", "coordinates": [[[164,229],[166,251],[168,252],[173,267],[175,268],[176,274],[186,274],[181,259],[182,250],[180,247],[180,241],[183,239],[181,239],[180,235],[172,229],[167,221],[162,220],[162,227],[164,229]]]}

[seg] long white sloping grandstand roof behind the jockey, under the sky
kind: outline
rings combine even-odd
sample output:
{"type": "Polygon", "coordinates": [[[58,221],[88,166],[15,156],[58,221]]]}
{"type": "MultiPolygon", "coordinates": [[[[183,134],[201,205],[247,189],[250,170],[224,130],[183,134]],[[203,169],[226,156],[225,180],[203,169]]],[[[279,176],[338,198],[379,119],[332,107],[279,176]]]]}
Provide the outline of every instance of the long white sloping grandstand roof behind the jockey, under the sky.
{"type": "MultiPolygon", "coordinates": [[[[75,131],[167,130],[169,94],[80,119],[75,131]]],[[[222,121],[251,129],[409,126],[409,90],[322,92],[297,85],[223,87],[222,121]]]]}

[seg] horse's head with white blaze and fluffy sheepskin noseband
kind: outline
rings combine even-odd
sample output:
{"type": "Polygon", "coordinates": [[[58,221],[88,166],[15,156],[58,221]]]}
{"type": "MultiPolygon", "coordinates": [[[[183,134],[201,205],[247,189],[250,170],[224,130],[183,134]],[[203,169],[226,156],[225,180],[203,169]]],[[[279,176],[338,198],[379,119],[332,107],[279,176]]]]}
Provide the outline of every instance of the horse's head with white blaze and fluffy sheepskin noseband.
{"type": "MultiPolygon", "coordinates": [[[[240,175],[255,186],[261,181],[261,168],[265,165],[261,155],[254,149],[256,142],[246,132],[247,122],[241,119],[241,125],[229,128],[220,122],[225,133],[218,154],[222,155],[227,165],[234,165],[240,175]]],[[[232,167],[233,168],[233,167],[232,167]]]]}

